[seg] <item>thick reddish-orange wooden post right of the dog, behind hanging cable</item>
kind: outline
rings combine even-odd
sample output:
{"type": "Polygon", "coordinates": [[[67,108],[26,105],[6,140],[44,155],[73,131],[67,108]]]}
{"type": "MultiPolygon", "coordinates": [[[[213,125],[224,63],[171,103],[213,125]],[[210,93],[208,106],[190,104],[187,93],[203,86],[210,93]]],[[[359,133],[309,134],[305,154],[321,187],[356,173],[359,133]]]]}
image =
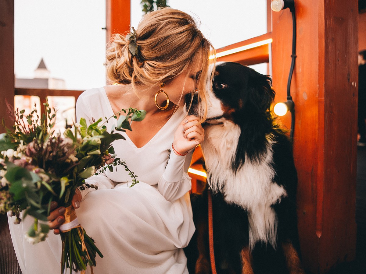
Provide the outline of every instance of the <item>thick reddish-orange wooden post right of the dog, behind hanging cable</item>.
{"type": "MultiPolygon", "coordinates": [[[[295,0],[297,48],[291,95],[304,266],[324,273],[355,258],[358,7],[356,0],[295,0]]],[[[272,12],[273,87],[286,100],[289,9],[272,12]]],[[[290,128],[290,114],[283,119],[290,128]]]]}

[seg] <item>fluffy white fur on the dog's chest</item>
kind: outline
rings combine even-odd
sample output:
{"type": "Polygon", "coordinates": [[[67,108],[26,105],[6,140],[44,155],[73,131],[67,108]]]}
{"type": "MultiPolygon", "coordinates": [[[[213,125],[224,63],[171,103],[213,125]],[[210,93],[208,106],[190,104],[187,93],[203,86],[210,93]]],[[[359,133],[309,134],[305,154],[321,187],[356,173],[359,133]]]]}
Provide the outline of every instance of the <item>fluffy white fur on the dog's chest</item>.
{"type": "Polygon", "coordinates": [[[201,146],[212,190],[222,191],[225,201],[248,211],[251,248],[258,241],[276,248],[277,216],[271,206],[287,194],[283,187],[273,182],[271,141],[267,157],[261,164],[246,159],[243,167],[234,174],[231,163],[238,145],[239,126],[224,121],[222,126],[207,128],[205,134],[209,137],[201,146]]]}

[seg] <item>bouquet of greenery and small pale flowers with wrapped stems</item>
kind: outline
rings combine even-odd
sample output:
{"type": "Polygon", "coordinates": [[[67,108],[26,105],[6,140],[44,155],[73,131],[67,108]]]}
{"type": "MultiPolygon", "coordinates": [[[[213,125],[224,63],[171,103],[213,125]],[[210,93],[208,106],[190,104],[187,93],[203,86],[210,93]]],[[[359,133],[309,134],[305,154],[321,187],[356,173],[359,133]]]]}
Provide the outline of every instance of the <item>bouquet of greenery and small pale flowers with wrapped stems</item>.
{"type": "MultiPolygon", "coordinates": [[[[65,223],[60,227],[62,240],[61,273],[65,268],[85,271],[87,265],[95,266],[98,254],[94,240],[79,224],[71,205],[75,190],[80,187],[98,186],[85,184],[85,179],[103,173],[107,168],[122,165],[131,176],[131,186],[138,183],[137,175],[130,171],[125,161],[114,154],[113,141],[125,139],[117,131],[132,130],[131,121],[141,121],[145,110],[121,110],[117,126],[109,133],[102,118],[87,125],[85,118],[64,132],[56,134],[55,109],[46,102],[45,111],[40,115],[33,110],[29,115],[24,110],[9,113],[14,126],[7,133],[0,134],[0,213],[10,212],[19,224],[20,212],[23,218],[35,218],[25,238],[32,244],[44,241],[49,232],[47,216],[51,203],[56,201],[65,206],[65,223]],[[26,121],[25,121],[26,120],[26,121]]],[[[130,186],[130,187],[131,187],[130,186]]]]}

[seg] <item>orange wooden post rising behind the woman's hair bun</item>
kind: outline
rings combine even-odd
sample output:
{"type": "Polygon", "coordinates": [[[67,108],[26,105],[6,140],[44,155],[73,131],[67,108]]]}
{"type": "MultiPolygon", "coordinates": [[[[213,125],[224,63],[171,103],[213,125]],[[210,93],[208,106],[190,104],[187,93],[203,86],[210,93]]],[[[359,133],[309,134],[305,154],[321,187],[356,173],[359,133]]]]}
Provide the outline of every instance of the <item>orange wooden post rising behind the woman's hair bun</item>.
{"type": "Polygon", "coordinates": [[[131,22],[130,0],[106,0],[105,11],[106,11],[106,30],[107,30],[106,41],[108,43],[111,40],[113,34],[130,31],[130,22],[131,22]]]}

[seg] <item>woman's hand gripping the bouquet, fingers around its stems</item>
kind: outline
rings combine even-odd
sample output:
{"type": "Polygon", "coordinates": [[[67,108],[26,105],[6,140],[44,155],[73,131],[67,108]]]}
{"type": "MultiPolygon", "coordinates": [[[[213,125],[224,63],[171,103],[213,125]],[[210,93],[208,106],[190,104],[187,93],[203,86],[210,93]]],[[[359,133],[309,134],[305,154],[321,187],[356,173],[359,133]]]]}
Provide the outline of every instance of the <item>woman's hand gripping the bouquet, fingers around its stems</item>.
{"type": "MultiPolygon", "coordinates": [[[[80,207],[80,200],[81,200],[81,193],[79,189],[76,189],[74,197],[72,197],[72,201],[71,204],[74,208],[79,208],[80,207]]],[[[60,206],[59,208],[57,207],[57,202],[52,202],[51,203],[51,213],[49,214],[49,216],[47,217],[48,219],[48,225],[49,225],[49,229],[53,229],[53,233],[54,234],[60,234],[60,225],[63,224],[63,222],[65,221],[65,217],[63,216],[63,214],[65,213],[65,208],[63,206],[60,206]]]]}

